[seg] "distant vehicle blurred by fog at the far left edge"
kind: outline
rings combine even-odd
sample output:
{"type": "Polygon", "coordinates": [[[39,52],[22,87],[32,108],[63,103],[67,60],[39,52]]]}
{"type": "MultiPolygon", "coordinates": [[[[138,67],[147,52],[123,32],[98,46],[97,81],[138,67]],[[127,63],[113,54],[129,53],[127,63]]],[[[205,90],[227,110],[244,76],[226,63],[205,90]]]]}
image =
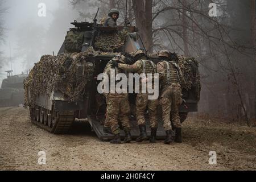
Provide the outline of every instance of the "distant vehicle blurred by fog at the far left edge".
{"type": "Polygon", "coordinates": [[[0,107],[19,106],[24,104],[23,81],[27,74],[12,75],[13,71],[6,71],[7,78],[2,81],[0,89],[0,107]]]}

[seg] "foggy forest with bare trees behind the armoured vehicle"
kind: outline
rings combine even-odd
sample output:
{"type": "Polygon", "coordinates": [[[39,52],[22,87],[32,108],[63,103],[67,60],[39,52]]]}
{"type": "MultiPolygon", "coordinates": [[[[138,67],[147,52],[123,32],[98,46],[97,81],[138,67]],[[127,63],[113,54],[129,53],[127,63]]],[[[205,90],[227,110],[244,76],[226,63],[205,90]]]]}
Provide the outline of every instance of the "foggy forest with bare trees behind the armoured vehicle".
{"type": "MultiPolygon", "coordinates": [[[[244,121],[252,125],[255,118],[255,2],[220,0],[217,15],[209,16],[212,1],[128,1],[127,18],[139,28],[149,52],[168,49],[195,57],[200,63],[201,100],[199,113],[244,121]]],[[[9,1],[0,1],[1,77],[10,68],[10,40],[7,37],[11,16],[9,1]],[[4,48],[5,47],[5,48],[4,48]]],[[[41,55],[57,53],[69,23],[92,21],[100,8],[98,21],[109,9],[121,11],[118,24],[124,23],[124,0],[56,1],[56,10],[48,26],[31,18],[11,32],[15,37],[11,59],[29,71],[41,55]]],[[[29,15],[32,16],[32,15],[29,15]]],[[[35,15],[36,16],[36,15],[35,15]]],[[[40,21],[40,18],[36,19],[40,21]]]]}

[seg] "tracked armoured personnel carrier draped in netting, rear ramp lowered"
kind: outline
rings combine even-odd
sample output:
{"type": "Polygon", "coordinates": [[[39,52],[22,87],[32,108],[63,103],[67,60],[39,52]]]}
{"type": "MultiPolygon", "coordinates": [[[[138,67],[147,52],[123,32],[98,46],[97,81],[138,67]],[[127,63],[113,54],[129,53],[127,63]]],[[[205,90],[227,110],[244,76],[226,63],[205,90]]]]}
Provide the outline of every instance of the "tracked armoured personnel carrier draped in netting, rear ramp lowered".
{"type": "MultiPolygon", "coordinates": [[[[112,136],[103,132],[106,103],[97,92],[97,76],[115,55],[144,49],[143,42],[135,27],[103,27],[96,19],[93,23],[75,20],[71,24],[75,27],[68,31],[58,55],[43,56],[24,82],[25,105],[31,121],[53,134],[68,133],[76,118],[87,118],[97,136],[109,140],[112,136]]],[[[157,63],[157,57],[152,59],[157,63]]],[[[193,69],[198,76],[198,65],[193,69]]],[[[184,90],[184,98],[188,107],[180,107],[183,121],[188,112],[197,111],[198,102],[193,88],[184,90]]],[[[130,102],[135,104],[134,94],[130,102]]],[[[137,138],[133,116],[131,121],[131,135],[137,138]]],[[[158,139],[165,135],[160,126],[158,139]]]]}

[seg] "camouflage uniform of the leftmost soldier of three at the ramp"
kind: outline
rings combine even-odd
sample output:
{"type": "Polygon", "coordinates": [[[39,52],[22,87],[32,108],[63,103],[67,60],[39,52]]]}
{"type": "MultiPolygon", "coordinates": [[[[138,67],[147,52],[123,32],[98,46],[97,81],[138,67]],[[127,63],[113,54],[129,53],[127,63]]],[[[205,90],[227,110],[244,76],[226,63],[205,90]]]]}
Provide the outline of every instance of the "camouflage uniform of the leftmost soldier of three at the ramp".
{"type": "MultiPolygon", "coordinates": [[[[110,78],[110,69],[112,68],[112,61],[109,61],[108,65],[104,70],[110,78]]],[[[115,68],[115,74],[123,73],[122,69],[115,68]]],[[[110,129],[114,135],[120,133],[118,119],[122,123],[122,127],[124,131],[130,131],[130,103],[128,94],[117,94],[117,93],[109,93],[105,94],[106,97],[106,123],[105,126],[108,127],[110,125],[110,129]]]]}

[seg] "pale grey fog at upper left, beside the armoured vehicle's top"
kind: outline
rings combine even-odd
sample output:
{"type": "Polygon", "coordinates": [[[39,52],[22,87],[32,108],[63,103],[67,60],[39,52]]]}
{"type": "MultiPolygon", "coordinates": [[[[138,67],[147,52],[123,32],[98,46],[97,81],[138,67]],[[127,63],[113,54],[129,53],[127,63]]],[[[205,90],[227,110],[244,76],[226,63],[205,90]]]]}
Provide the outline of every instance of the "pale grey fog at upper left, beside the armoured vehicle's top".
{"type": "Polygon", "coordinates": [[[7,8],[3,15],[5,43],[1,46],[7,64],[1,69],[1,78],[6,77],[3,71],[11,69],[10,52],[13,74],[26,72],[40,56],[59,51],[69,22],[79,17],[68,0],[9,0],[2,6],[7,8]],[[39,3],[45,3],[46,17],[38,15],[39,3]],[[34,56],[26,55],[30,51],[34,56]]]}

